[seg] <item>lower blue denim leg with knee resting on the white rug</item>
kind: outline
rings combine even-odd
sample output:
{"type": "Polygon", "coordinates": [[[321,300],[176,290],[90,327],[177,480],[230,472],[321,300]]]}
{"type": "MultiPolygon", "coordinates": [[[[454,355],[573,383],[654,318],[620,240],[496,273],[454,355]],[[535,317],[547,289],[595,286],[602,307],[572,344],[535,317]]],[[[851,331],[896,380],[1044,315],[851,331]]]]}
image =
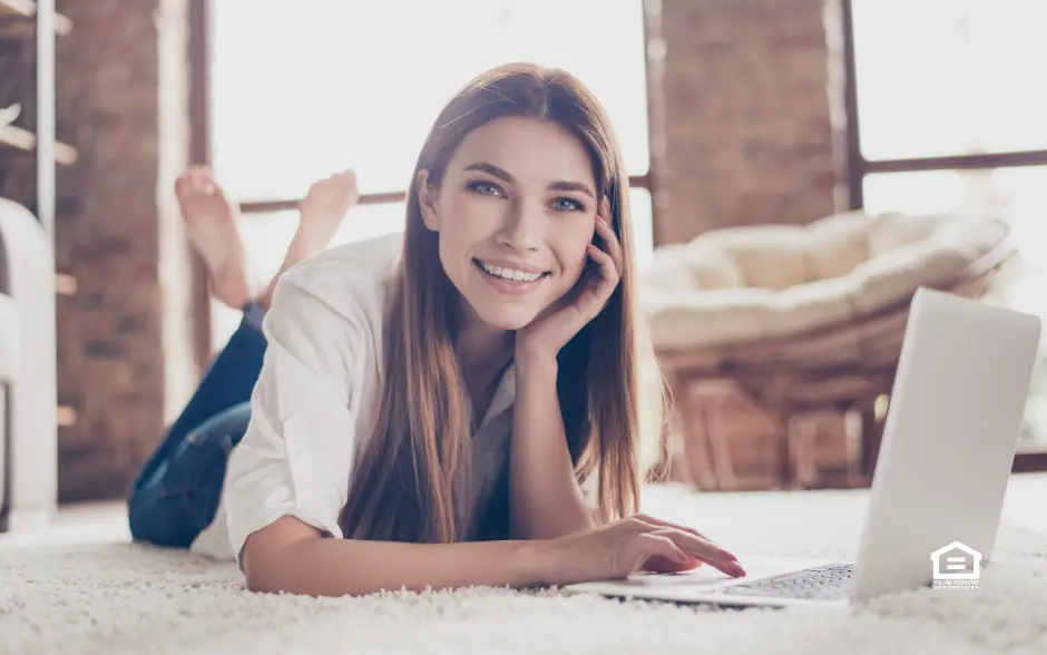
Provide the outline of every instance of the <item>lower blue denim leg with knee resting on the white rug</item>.
{"type": "Polygon", "coordinates": [[[188,548],[215,518],[229,452],[251,422],[251,402],[231,407],[189,432],[135,490],[128,504],[131,536],[188,548]]]}

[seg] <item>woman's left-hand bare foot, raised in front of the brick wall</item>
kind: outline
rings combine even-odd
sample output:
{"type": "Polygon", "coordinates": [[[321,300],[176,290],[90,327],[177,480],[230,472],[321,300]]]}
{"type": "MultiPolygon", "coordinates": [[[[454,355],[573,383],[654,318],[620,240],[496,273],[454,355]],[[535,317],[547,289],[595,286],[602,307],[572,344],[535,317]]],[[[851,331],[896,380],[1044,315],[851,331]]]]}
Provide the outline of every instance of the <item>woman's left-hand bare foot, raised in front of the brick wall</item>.
{"type": "Polygon", "coordinates": [[[207,266],[211,293],[231,307],[243,307],[252,289],[233,204],[202,167],[190,167],[178,177],[175,195],[189,243],[207,266]]]}

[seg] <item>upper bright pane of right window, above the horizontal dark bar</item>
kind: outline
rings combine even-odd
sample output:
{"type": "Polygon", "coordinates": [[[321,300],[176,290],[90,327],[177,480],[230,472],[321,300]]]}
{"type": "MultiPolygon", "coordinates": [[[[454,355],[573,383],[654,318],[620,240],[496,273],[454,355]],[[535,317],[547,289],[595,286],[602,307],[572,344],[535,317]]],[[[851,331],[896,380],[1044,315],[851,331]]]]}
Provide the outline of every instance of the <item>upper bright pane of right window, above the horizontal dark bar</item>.
{"type": "Polygon", "coordinates": [[[1047,148],[1047,2],[853,3],[867,158],[1047,148]]]}

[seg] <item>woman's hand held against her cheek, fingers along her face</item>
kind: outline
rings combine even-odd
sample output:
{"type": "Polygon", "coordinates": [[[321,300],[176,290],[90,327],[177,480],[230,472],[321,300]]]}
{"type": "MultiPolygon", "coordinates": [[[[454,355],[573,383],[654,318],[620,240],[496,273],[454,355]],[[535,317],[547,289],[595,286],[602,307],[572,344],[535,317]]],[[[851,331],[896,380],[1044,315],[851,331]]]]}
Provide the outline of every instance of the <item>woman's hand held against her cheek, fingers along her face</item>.
{"type": "Polygon", "coordinates": [[[607,217],[610,204],[605,197],[596,216],[596,232],[607,252],[589,244],[588,256],[597,264],[596,274],[583,273],[580,284],[552,304],[526,328],[517,331],[516,350],[525,356],[556,358],[571,338],[600,313],[622,277],[622,244],[607,217]]]}

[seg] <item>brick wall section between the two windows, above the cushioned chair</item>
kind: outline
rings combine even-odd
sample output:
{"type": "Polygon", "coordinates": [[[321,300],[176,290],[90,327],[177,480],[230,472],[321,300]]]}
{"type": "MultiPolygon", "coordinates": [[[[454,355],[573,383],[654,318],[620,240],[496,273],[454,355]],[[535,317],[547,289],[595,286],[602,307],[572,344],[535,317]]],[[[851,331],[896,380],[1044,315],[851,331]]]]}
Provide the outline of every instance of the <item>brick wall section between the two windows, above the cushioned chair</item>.
{"type": "Polygon", "coordinates": [[[845,207],[839,1],[647,2],[659,242],[845,207]]]}

